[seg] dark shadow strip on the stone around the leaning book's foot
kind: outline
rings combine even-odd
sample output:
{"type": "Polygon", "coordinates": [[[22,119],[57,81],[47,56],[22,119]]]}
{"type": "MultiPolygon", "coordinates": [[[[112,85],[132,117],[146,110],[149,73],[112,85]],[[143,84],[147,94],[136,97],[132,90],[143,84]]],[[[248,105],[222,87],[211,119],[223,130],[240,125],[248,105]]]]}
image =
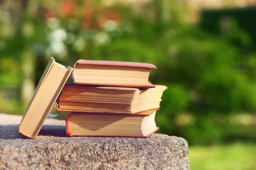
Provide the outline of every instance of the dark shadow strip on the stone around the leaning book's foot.
{"type": "MultiPolygon", "coordinates": [[[[18,127],[19,125],[0,125],[0,140],[28,139],[18,132],[18,127]]],[[[70,137],[64,125],[43,125],[38,133],[38,137],[40,136],[70,137]]]]}

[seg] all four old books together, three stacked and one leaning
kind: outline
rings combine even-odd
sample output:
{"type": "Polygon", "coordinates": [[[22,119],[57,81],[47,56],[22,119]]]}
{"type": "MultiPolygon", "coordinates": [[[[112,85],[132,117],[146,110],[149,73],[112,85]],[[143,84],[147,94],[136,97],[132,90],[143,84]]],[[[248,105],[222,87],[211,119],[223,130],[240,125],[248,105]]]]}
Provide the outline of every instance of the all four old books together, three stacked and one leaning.
{"type": "Polygon", "coordinates": [[[158,130],[154,121],[164,85],[148,82],[154,65],[138,62],[79,60],[74,68],[51,59],[29,103],[19,132],[37,136],[52,105],[70,112],[70,136],[148,137],[158,130]],[[72,73],[75,84],[64,85],[72,73]]]}

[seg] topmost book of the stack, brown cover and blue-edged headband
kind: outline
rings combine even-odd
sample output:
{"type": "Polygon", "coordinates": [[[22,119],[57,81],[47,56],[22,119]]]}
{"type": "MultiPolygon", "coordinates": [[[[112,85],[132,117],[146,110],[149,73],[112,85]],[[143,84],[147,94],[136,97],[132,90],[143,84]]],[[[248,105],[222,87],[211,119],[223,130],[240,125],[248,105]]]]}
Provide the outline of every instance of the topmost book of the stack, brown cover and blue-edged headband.
{"type": "Polygon", "coordinates": [[[79,59],[74,64],[72,78],[77,85],[154,88],[148,82],[156,66],[141,62],[98,61],[79,59]]]}

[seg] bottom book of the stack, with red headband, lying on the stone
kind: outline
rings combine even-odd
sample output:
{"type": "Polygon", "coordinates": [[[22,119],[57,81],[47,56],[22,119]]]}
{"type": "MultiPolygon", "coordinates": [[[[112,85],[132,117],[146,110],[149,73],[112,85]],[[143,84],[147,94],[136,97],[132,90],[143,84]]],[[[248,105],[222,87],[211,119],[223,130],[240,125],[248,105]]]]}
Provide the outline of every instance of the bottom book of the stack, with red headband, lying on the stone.
{"type": "Polygon", "coordinates": [[[155,110],[133,115],[70,113],[66,120],[70,136],[147,138],[159,128],[154,121],[155,110]]]}

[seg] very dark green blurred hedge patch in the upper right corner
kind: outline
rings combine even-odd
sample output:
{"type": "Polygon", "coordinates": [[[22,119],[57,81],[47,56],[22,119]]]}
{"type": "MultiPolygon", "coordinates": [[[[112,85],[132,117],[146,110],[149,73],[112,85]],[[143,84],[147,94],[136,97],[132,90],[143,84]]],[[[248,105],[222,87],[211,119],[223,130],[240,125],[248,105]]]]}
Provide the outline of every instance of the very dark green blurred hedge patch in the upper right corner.
{"type": "MultiPolygon", "coordinates": [[[[230,19],[232,18],[232,20],[236,21],[236,24],[238,24],[241,28],[243,28],[244,31],[246,31],[250,35],[251,42],[250,44],[247,44],[246,48],[255,51],[256,18],[251,17],[255,15],[255,12],[255,7],[227,8],[222,10],[203,10],[201,14],[201,21],[199,24],[202,28],[211,31],[214,34],[224,33],[235,38],[236,36],[241,36],[241,34],[244,34],[244,32],[241,32],[239,29],[233,29],[232,32],[230,32],[229,29],[226,29],[232,26],[230,25],[230,19]],[[222,23],[222,30],[219,27],[220,23],[222,23]]],[[[248,38],[243,39],[243,41],[248,42],[248,38]]],[[[233,42],[236,43],[236,40],[233,39],[233,42]]]]}

